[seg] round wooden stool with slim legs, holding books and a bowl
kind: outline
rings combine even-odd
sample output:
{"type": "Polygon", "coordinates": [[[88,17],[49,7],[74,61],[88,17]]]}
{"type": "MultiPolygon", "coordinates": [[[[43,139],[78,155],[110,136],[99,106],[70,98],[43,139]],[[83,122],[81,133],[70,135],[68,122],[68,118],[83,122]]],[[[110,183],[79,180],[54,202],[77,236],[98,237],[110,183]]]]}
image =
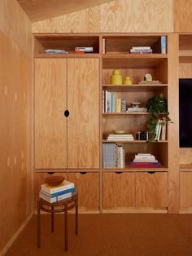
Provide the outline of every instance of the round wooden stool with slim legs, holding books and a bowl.
{"type": "Polygon", "coordinates": [[[68,210],[76,207],[76,235],[78,233],[78,194],[69,197],[62,201],[57,201],[55,203],[49,203],[41,198],[37,201],[37,246],[41,246],[41,224],[40,215],[41,210],[51,213],[51,232],[54,232],[54,214],[64,212],[65,218],[65,250],[68,250],[68,210]],[[45,206],[47,208],[45,208],[45,206]],[[59,209],[57,209],[59,206],[59,209]]]}

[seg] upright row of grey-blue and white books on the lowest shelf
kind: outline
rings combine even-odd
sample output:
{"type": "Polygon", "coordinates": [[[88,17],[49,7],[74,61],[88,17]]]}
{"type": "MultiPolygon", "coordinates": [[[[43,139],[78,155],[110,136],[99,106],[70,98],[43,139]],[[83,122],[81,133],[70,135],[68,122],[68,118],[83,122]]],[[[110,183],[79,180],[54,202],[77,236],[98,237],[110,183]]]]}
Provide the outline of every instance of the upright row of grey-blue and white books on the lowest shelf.
{"type": "Polygon", "coordinates": [[[103,143],[103,168],[124,168],[124,147],[116,143],[103,143]]]}

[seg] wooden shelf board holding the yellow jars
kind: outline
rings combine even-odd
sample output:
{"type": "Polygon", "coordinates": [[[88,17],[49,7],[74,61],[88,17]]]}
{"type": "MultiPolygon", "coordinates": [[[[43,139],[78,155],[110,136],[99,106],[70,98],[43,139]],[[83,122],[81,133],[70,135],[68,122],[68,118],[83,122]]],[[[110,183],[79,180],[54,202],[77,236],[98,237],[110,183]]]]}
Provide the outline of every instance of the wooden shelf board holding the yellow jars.
{"type": "Polygon", "coordinates": [[[142,91],[154,91],[162,88],[168,88],[168,84],[133,84],[131,86],[117,86],[104,84],[103,90],[109,90],[111,92],[142,92],[142,91]]]}

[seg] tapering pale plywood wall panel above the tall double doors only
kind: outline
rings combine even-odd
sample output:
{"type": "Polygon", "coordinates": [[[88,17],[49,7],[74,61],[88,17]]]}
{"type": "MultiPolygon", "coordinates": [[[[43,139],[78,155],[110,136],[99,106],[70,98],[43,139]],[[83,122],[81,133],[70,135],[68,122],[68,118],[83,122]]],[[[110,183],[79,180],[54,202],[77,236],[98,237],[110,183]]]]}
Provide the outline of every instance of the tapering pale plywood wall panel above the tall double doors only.
{"type": "Polygon", "coordinates": [[[100,31],[99,7],[76,11],[33,23],[33,33],[97,33],[100,31]]]}

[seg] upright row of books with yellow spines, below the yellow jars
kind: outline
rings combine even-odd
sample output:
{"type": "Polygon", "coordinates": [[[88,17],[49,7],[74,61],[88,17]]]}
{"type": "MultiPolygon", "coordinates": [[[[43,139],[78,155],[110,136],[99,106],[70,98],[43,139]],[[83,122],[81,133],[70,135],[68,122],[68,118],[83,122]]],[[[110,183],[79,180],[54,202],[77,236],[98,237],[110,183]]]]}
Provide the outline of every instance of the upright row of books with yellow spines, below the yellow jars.
{"type": "Polygon", "coordinates": [[[103,113],[125,113],[126,100],[117,98],[110,91],[103,90],[102,109],[103,113]]]}

